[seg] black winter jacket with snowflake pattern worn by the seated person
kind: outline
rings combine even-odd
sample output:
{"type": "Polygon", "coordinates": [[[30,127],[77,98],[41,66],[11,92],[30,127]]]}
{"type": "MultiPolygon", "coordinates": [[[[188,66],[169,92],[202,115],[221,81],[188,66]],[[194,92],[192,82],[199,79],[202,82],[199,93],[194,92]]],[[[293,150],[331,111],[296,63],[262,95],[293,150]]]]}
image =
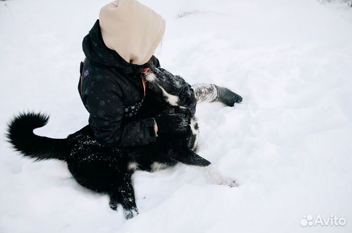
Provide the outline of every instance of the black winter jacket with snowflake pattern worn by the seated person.
{"type": "MultiPolygon", "coordinates": [[[[81,67],[78,91],[89,112],[88,122],[96,140],[113,146],[154,142],[154,118],[136,120],[144,98],[141,72],[147,63],[128,63],[109,49],[102,39],[99,20],[82,46],[86,61],[81,67]]],[[[160,67],[154,56],[148,63],[160,67]]]]}

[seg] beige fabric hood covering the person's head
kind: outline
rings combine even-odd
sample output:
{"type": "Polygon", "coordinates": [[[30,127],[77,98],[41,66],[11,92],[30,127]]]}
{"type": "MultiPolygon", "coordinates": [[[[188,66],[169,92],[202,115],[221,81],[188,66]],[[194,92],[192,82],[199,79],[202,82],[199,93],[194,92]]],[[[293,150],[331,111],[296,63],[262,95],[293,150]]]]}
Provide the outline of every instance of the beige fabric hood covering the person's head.
{"type": "Polygon", "coordinates": [[[136,0],[115,0],[99,14],[104,43],[129,63],[142,65],[165,32],[165,19],[136,0]]]}

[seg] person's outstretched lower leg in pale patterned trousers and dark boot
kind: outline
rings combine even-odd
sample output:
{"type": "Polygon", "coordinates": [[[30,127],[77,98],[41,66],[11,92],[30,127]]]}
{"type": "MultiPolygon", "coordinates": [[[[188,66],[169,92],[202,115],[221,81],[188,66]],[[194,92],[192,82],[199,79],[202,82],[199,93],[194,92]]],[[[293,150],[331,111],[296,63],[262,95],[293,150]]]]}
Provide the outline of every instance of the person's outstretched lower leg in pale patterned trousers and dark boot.
{"type": "Polygon", "coordinates": [[[192,85],[197,102],[220,101],[228,106],[234,106],[235,103],[241,103],[242,97],[227,89],[215,84],[197,83],[192,85]]]}

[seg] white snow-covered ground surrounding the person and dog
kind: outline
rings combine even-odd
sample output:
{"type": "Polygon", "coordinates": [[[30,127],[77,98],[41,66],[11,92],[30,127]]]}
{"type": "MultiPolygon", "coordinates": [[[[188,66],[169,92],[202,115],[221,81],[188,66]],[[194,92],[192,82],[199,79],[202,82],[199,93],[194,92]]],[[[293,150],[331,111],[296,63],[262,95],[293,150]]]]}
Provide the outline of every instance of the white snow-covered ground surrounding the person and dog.
{"type": "MultiPolygon", "coordinates": [[[[198,154],[240,186],[177,165],[133,175],[139,215],[81,188],[63,162],[32,163],[0,142],[0,232],[351,232],[352,8],[316,0],[141,0],[167,29],[155,55],[189,83],[242,95],[198,105],[198,154]],[[177,17],[178,15],[183,17],[177,17]],[[304,215],[345,218],[307,226],[304,215]]],[[[0,130],[23,110],[35,133],[88,123],[77,92],[81,43],[109,0],[0,2],[0,130]]]]}

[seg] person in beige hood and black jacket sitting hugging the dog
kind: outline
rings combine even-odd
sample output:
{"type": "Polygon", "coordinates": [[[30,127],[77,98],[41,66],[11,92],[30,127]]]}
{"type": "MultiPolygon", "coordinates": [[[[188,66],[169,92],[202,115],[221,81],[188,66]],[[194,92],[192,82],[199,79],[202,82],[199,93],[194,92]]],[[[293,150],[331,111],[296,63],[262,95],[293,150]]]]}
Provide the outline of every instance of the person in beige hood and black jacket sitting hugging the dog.
{"type": "MultiPolygon", "coordinates": [[[[144,69],[160,67],[153,54],[164,31],[165,20],[152,9],[136,0],[115,0],[100,10],[99,19],[83,39],[86,59],[81,63],[78,91],[99,143],[140,146],[154,142],[157,135],[185,130],[188,117],[181,113],[133,120],[145,96],[144,69]]],[[[228,89],[212,85],[198,84],[197,100],[214,101],[228,94],[228,89]]],[[[242,100],[233,97],[228,97],[228,105],[242,100]]]]}

